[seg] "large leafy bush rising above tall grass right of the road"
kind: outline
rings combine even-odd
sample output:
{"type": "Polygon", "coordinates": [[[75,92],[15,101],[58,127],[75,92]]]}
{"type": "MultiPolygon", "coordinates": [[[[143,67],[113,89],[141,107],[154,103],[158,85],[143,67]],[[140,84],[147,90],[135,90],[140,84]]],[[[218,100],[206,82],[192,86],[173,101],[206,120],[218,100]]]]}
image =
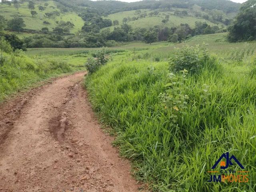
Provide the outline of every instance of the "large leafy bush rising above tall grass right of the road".
{"type": "Polygon", "coordinates": [[[179,72],[181,70],[188,70],[190,73],[198,72],[210,56],[207,53],[204,46],[196,47],[184,46],[183,48],[177,48],[174,56],[169,58],[170,70],[179,72]]]}

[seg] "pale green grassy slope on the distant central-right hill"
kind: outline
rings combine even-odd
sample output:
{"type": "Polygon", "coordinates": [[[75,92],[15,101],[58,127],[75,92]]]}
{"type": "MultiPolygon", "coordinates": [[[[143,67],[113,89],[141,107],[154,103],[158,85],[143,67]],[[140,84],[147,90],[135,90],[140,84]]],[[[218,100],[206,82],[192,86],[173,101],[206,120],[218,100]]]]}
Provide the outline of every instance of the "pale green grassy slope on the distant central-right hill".
{"type": "MultiPolygon", "coordinates": [[[[196,21],[206,22],[211,26],[222,25],[219,22],[212,23],[208,20],[205,20],[204,18],[196,17],[195,12],[202,12],[200,8],[198,8],[198,6],[194,6],[193,10],[174,8],[172,11],[160,11],[157,16],[150,16],[150,12],[153,12],[153,11],[149,9],[143,9],[141,10],[141,13],[147,14],[145,18],[138,18],[138,20],[131,20],[131,21],[128,21],[127,23],[134,28],[151,28],[157,25],[174,27],[174,26],[179,26],[180,24],[186,24],[186,23],[189,24],[192,28],[194,28],[196,21]],[[187,16],[174,15],[175,10],[178,10],[178,11],[187,10],[188,15],[187,16]],[[169,21],[164,24],[162,23],[162,20],[165,19],[166,15],[170,15],[170,18],[169,18],[169,21]]],[[[118,20],[119,24],[122,24],[123,18],[128,18],[128,17],[133,18],[133,17],[138,17],[139,15],[140,14],[136,14],[136,10],[132,10],[132,11],[124,11],[124,12],[118,12],[115,14],[110,14],[105,18],[110,19],[112,21],[118,20]]],[[[114,26],[111,26],[109,28],[113,30],[114,26]]]]}

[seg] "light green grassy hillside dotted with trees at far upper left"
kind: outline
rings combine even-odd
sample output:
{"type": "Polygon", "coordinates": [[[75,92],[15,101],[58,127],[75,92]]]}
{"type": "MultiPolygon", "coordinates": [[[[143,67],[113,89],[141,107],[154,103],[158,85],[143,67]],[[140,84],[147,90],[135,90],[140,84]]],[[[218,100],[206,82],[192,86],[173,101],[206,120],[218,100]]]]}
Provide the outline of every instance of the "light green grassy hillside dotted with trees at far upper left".
{"type": "Polygon", "coordinates": [[[18,9],[18,12],[16,8],[14,8],[13,4],[11,7],[6,4],[0,4],[0,14],[3,15],[7,20],[10,20],[15,16],[22,17],[26,24],[25,29],[30,30],[41,30],[43,27],[48,27],[49,30],[52,31],[52,28],[58,26],[58,24],[56,24],[56,21],[70,21],[74,24],[74,28],[71,28],[70,32],[75,33],[78,30],[81,30],[82,26],[84,25],[84,21],[82,20],[82,18],[80,18],[75,12],[61,13],[60,9],[57,8],[57,2],[35,1],[35,4],[36,5],[34,10],[38,13],[38,15],[34,17],[32,17],[32,15],[30,14],[30,10],[28,9],[28,2],[20,4],[21,6],[18,9]],[[38,6],[44,6],[45,3],[49,4],[46,9],[44,11],[38,10],[38,6]],[[53,11],[60,12],[60,16],[55,16],[53,18],[48,18],[45,16],[45,13],[53,11]],[[50,24],[43,24],[44,21],[47,21],[50,24]]]}

